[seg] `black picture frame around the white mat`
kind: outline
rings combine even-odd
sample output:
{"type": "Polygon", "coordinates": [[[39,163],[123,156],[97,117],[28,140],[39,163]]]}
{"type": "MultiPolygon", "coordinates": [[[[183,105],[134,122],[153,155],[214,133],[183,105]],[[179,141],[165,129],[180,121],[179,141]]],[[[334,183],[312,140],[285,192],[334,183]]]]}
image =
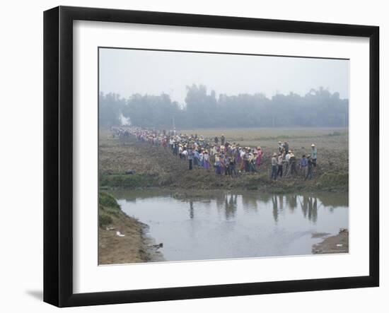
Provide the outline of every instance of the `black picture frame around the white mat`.
{"type": "Polygon", "coordinates": [[[58,307],[293,293],[379,285],[379,28],[182,13],[59,6],[44,13],[44,301],[58,307]],[[369,275],[184,288],[73,292],[73,21],[368,37],[370,47],[369,275]]]}

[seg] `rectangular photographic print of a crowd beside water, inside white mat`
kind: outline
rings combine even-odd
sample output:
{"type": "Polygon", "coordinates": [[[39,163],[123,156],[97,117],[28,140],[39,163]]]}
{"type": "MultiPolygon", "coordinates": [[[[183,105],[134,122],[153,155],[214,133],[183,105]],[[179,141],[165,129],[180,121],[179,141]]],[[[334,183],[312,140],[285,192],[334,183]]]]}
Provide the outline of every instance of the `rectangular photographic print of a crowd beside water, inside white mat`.
{"type": "Polygon", "coordinates": [[[99,265],[349,253],[349,59],[99,47],[98,89],[99,265]]]}

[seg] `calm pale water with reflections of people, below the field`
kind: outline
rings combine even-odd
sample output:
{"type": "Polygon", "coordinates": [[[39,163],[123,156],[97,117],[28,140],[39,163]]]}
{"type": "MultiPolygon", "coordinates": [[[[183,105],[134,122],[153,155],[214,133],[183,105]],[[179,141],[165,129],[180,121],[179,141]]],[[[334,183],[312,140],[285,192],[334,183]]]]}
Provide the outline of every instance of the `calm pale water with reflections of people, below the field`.
{"type": "Polygon", "coordinates": [[[112,191],[149,225],[166,260],[310,254],[315,232],[348,228],[347,195],[112,191]]]}

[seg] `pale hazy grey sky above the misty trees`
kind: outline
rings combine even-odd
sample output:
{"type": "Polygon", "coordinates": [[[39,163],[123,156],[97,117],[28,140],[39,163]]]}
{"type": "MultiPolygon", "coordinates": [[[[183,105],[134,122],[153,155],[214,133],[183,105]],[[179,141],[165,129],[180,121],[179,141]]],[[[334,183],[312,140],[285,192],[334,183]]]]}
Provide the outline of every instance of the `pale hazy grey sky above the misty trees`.
{"type": "Polygon", "coordinates": [[[328,88],[349,98],[349,61],[130,49],[100,49],[100,91],[128,98],[134,93],[185,102],[186,85],[207,86],[208,93],[238,95],[289,92],[305,95],[328,88]]]}

